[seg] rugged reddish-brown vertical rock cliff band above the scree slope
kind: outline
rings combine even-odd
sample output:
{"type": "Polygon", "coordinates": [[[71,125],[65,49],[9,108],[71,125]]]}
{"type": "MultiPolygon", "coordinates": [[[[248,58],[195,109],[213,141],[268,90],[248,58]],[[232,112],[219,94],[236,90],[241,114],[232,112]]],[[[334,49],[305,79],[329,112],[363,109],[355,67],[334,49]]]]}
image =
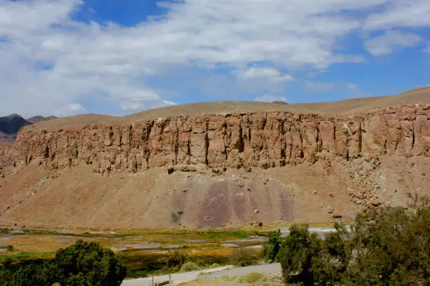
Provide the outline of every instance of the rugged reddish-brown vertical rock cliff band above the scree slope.
{"type": "Polygon", "coordinates": [[[430,104],[388,107],[356,116],[250,112],[158,118],[84,128],[24,130],[15,165],[96,172],[153,167],[271,168],[337,156],[430,156],[430,104]]]}

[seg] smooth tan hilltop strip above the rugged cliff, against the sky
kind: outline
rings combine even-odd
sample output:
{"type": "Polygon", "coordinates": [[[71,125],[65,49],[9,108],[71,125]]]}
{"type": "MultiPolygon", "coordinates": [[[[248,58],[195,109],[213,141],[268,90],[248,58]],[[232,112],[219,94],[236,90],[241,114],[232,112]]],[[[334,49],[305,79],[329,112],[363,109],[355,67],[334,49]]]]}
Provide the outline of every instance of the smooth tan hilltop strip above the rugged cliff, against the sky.
{"type": "Polygon", "coordinates": [[[100,114],[82,114],[41,122],[27,128],[62,128],[82,127],[94,123],[131,123],[142,119],[190,116],[197,114],[216,114],[223,112],[248,111],[291,111],[319,114],[352,114],[375,108],[391,107],[401,104],[418,104],[430,102],[430,87],[410,90],[400,95],[383,97],[363,97],[339,102],[318,102],[301,104],[279,104],[268,102],[199,102],[180,104],[171,107],[150,109],[124,117],[106,116],[100,114]]]}

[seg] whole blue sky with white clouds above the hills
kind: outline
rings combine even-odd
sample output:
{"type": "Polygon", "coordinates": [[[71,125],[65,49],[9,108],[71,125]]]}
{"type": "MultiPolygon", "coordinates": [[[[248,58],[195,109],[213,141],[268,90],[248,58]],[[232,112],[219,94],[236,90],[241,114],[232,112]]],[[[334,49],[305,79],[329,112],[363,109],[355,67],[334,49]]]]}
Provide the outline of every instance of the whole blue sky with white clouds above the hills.
{"type": "Polygon", "coordinates": [[[0,0],[0,116],[430,86],[429,0],[0,0]]]}

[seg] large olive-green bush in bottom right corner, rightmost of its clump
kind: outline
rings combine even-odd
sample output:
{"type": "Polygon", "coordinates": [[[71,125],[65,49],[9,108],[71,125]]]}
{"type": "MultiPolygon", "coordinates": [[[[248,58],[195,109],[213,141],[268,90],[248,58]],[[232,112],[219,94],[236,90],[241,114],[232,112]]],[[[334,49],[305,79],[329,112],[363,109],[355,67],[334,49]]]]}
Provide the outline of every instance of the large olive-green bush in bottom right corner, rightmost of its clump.
{"type": "Polygon", "coordinates": [[[430,208],[387,209],[358,216],[346,285],[428,285],[430,208]]]}

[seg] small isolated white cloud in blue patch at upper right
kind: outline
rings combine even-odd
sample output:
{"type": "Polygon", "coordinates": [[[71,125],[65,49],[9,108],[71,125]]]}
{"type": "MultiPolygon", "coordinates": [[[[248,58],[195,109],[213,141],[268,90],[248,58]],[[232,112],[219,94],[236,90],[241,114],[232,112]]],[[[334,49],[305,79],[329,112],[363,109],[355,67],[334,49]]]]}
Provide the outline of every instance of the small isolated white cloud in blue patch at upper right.
{"type": "Polygon", "coordinates": [[[386,55],[393,52],[394,48],[412,48],[421,41],[421,37],[416,34],[388,31],[366,40],[365,46],[372,55],[386,55]]]}

